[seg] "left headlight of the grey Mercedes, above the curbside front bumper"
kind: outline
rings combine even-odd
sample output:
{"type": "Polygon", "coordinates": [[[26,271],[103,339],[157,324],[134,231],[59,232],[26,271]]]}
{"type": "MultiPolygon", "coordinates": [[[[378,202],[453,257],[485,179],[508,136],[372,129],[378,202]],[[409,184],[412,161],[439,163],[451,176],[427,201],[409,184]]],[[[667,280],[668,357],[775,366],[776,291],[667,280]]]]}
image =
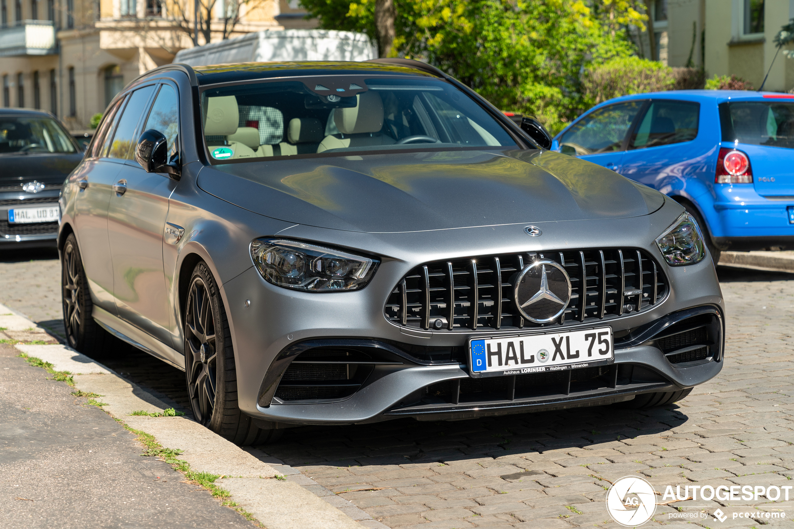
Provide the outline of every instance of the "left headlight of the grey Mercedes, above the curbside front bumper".
{"type": "Polygon", "coordinates": [[[306,292],[363,289],[380,263],[377,259],[283,239],[254,240],[251,257],[268,282],[306,292]]]}

